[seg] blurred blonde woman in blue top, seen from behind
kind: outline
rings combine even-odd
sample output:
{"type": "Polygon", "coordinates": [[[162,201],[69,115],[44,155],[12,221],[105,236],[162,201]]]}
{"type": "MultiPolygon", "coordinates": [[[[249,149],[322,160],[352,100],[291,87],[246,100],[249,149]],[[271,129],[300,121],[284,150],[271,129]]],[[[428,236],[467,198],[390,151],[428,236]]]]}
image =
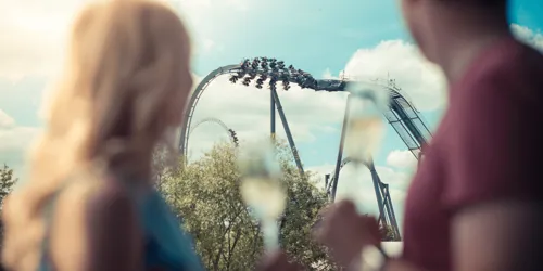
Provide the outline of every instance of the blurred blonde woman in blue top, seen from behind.
{"type": "Polygon", "coordinates": [[[86,8],[34,150],[4,209],[9,270],[201,270],[152,189],[151,157],[192,87],[187,31],[167,7],[86,8]]]}

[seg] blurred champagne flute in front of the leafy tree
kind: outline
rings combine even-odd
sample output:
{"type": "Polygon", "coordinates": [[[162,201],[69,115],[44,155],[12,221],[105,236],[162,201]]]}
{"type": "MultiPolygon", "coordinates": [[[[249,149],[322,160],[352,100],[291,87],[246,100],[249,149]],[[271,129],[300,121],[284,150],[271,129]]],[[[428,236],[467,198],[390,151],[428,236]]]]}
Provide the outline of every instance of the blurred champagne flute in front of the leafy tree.
{"type": "Polygon", "coordinates": [[[281,170],[270,142],[252,144],[242,150],[238,159],[241,170],[240,192],[243,202],[261,222],[264,247],[279,249],[277,218],[287,204],[287,193],[281,185],[281,170]]]}

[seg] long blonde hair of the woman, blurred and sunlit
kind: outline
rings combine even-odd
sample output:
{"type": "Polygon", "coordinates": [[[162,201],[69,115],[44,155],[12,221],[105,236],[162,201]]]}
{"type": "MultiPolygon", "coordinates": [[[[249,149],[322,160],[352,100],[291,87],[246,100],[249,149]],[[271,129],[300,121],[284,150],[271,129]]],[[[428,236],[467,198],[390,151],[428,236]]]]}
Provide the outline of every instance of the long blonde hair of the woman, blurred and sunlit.
{"type": "Polygon", "coordinates": [[[172,116],[182,114],[192,85],[189,43],[179,17],[152,0],[101,1],[81,11],[28,183],[4,208],[5,267],[36,270],[43,208],[68,175],[151,156],[147,150],[177,125],[172,116]]]}

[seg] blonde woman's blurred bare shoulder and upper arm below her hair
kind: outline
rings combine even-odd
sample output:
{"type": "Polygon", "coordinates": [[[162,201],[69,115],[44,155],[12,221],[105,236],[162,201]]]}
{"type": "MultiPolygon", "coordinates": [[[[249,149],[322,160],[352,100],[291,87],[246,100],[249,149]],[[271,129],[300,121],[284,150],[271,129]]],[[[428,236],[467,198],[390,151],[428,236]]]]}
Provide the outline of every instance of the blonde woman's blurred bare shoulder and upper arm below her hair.
{"type": "MultiPolygon", "coordinates": [[[[140,227],[129,191],[115,181],[75,182],[65,188],[54,206],[51,228],[53,259],[64,257],[54,251],[79,250],[86,257],[106,257],[104,253],[123,250],[125,256],[140,257],[140,227]]],[[[115,253],[118,254],[118,253],[115,253]]],[[[85,259],[55,260],[75,270],[85,259]],[[72,262],[72,263],[70,263],[72,262]]],[[[100,270],[100,268],[96,268],[100,270]]]]}

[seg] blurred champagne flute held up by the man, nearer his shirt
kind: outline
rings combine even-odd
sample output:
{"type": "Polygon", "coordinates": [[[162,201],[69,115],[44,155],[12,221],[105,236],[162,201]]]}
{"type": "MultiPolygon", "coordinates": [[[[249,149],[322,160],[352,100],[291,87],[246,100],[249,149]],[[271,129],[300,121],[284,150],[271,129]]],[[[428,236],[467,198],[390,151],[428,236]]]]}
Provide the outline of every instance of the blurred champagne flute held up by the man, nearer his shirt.
{"type": "MultiPolygon", "coordinates": [[[[348,90],[350,114],[345,154],[354,163],[356,176],[359,176],[363,168],[372,163],[371,157],[379,150],[384,137],[386,124],[382,113],[389,106],[390,94],[387,89],[366,82],[350,83],[348,90]]],[[[358,212],[363,215],[362,197],[352,192],[348,197],[356,204],[358,212]]]]}

